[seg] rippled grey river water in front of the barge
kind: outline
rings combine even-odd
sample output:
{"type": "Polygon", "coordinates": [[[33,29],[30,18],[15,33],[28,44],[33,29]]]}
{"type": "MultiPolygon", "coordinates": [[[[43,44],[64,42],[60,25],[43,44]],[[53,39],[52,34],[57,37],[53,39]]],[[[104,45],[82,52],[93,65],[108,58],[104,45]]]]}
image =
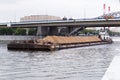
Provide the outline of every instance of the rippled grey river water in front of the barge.
{"type": "Polygon", "coordinates": [[[101,80],[120,42],[53,52],[9,51],[0,44],[0,80],[101,80]]]}

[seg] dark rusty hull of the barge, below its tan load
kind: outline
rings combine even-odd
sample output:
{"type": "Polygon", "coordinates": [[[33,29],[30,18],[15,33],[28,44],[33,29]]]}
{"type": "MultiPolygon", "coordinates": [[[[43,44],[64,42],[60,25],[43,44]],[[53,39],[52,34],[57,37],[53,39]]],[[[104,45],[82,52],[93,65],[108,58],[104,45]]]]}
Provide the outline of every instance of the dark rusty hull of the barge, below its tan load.
{"type": "Polygon", "coordinates": [[[51,47],[51,45],[38,45],[34,43],[10,43],[7,45],[8,50],[37,50],[37,51],[55,51],[68,48],[95,46],[103,44],[111,44],[112,41],[100,41],[100,42],[89,42],[89,43],[77,43],[77,44],[62,44],[51,47]]]}

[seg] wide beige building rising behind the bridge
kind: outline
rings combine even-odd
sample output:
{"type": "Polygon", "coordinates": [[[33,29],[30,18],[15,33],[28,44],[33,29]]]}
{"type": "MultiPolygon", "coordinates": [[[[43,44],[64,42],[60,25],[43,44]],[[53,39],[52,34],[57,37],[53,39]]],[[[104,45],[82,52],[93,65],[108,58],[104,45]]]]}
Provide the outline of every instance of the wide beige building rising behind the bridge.
{"type": "Polygon", "coordinates": [[[60,17],[51,15],[30,15],[20,18],[20,21],[61,20],[60,17]]]}

